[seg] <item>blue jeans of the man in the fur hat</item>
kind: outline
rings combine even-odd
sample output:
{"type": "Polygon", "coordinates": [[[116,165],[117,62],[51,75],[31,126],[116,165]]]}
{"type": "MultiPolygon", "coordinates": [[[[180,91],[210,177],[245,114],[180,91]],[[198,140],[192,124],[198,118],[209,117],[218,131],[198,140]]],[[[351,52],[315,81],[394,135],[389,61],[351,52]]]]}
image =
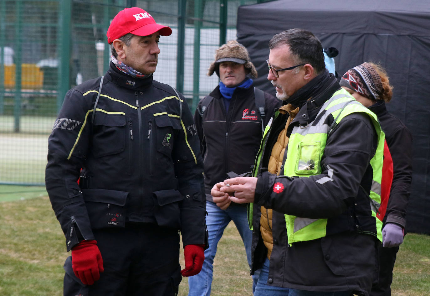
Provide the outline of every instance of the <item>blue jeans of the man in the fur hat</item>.
{"type": "MultiPolygon", "coordinates": [[[[188,277],[188,296],[210,295],[213,262],[218,241],[221,239],[224,229],[232,220],[236,225],[237,231],[239,231],[240,237],[242,237],[243,244],[245,245],[246,259],[248,260],[248,265],[251,266],[252,231],[249,230],[246,207],[230,204],[230,207],[226,210],[221,210],[215,203],[208,201],[206,202],[206,211],[208,212],[206,224],[208,225],[209,232],[209,248],[205,250],[205,261],[203,262],[202,271],[199,274],[188,277]]],[[[252,276],[252,291],[254,291],[257,279],[258,274],[254,274],[252,276]]]]}

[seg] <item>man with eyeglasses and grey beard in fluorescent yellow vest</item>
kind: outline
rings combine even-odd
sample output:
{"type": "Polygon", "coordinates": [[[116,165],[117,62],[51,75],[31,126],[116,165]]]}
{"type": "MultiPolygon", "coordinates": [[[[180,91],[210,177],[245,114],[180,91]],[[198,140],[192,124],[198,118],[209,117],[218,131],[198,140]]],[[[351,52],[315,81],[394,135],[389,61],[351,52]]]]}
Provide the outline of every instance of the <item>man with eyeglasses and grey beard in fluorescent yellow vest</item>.
{"type": "Polygon", "coordinates": [[[326,70],[311,32],[284,31],[269,47],[267,79],[283,105],[253,177],[216,184],[213,200],[250,203],[254,296],[368,296],[382,239],[384,133],[326,70]]]}

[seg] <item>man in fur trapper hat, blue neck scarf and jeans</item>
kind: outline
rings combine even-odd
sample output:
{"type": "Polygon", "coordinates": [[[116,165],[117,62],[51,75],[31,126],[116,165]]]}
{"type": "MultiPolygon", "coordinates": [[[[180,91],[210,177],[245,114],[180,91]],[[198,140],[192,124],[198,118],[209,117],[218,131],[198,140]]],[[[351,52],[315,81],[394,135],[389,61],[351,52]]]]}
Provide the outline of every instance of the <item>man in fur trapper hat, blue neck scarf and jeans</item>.
{"type": "MultiPolygon", "coordinates": [[[[279,105],[275,97],[254,89],[253,81],[247,75],[257,77],[257,71],[245,46],[236,40],[230,40],[216,50],[215,62],[210,65],[208,75],[214,72],[221,81],[199,102],[194,114],[204,159],[209,249],[205,251],[202,271],[188,278],[189,296],[210,294],[217,244],[231,220],[242,237],[251,264],[252,231],[247,222],[246,206],[217,205],[210,190],[229,172],[233,174],[231,176],[237,176],[252,170],[262,130],[279,105]]],[[[256,283],[257,276],[254,278],[256,283]]]]}

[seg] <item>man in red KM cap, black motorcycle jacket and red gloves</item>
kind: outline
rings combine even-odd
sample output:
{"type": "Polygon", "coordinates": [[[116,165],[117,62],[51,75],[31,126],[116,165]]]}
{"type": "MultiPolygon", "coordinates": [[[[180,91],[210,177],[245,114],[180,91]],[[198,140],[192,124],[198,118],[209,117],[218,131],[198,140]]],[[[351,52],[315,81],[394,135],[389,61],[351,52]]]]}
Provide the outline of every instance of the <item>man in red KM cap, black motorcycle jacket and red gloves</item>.
{"type": "Polygon", "coordinates": [[[170,34],[143,9],[120,11],[107,30],[109,70],[64,98],[45,181],[71,250],[65,296],[173,296],[181,274],[202,268],[206,197],[196,126],[184,97],[152,76],[160,35],[170,34]]]}

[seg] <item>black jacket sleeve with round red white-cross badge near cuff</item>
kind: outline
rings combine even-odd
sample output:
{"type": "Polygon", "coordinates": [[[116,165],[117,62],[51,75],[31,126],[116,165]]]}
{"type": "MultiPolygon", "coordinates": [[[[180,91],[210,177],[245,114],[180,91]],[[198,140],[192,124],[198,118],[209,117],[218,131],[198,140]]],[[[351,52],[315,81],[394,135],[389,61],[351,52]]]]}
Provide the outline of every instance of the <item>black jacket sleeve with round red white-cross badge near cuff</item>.
{"type": "Polygon", "coordinates": [[[322,173],[310,177],[258,176],[255,202],[280,213],[318,219],[338,216],[354,202],[377,136],[367,114],[344,117],[327,139],[322,156],[322,173]],[[319,182],[325,179],[327,182],[319,182]],[[282,183],[281,193],[273,190],[282,183]]]}

